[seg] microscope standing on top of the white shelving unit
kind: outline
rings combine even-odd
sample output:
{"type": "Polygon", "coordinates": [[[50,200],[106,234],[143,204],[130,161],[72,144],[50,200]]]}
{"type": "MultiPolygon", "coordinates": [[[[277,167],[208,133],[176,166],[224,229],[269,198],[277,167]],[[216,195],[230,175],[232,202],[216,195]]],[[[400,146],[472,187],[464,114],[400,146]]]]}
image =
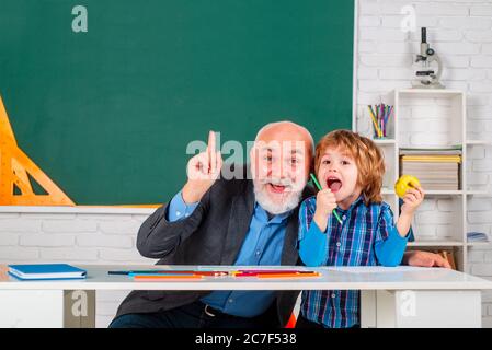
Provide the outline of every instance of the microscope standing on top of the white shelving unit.
{"type": "Polygon", "coordinates": [[[422,69],[416,71],[417,80],[412,82],[414,89],[444,89],[439,82],[443,74],[443,62],[436,51],[427,43],[427,28],[422,28],[421,54],[416,55],[416,63],[422,62],[422,69]],[[437,63],[437,72],[431,65],[437,63]]]}

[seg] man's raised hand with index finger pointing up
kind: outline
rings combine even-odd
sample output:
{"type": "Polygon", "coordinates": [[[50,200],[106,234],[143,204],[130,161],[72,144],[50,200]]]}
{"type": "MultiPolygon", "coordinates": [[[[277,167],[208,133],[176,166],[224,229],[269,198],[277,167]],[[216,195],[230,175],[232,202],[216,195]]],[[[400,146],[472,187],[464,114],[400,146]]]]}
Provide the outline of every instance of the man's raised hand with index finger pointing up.
{"type": "Polygon", "coordinates": [[[222,156],[215,151],[215,132],[208,133],[208,144],[205,152],[193,156],[187,163],[187,183],[182,194],[184,202],[194,203],[202,199],[220,175],[222,156]]]}

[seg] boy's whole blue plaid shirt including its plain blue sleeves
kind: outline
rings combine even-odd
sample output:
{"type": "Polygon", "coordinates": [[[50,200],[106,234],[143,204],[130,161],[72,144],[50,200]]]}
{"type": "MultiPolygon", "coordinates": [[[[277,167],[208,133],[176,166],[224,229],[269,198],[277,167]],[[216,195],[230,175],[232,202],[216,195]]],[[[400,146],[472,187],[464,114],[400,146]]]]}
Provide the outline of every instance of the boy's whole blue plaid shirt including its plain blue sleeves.
{"type": "MultiPolygon", "coordinates": [[[[366,206],[361,196],[347,210],[336,209],[340,224],[330,215],[324,232],[313,221],[316,197],[299,209],[299,255],[308,266],[396,266],[401,262],[409,235],[402,237],[389,205],[366,206]]],[[[359,291],[304,291],[300,312],[330,328],[361,324],[359,291]]]]}

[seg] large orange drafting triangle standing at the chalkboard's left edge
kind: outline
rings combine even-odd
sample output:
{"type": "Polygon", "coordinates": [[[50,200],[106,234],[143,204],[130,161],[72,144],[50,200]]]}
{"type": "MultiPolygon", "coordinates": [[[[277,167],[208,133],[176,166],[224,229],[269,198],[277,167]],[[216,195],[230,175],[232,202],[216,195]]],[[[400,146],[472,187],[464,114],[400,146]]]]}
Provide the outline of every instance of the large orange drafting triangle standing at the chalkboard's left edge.
{"type": "Polygon", "coordinates": [[[75,206],[75,202],[18,147],[0,96],[0,206],[75,206]],[[47,192],[36,195],[28,175],[47,192]],[[21,195],[14,194],[16,186],[21,195]]]}

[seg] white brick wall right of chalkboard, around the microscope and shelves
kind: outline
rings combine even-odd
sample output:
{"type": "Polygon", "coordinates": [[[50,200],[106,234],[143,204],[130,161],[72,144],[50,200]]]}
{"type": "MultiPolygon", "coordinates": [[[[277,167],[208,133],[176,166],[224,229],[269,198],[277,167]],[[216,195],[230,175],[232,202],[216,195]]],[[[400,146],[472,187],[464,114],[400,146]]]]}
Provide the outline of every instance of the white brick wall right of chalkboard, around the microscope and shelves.
{"type": "MultiPolygon", "coordinates": [[[[359,0],[358,128],[370,132],[367,104],[385,102],[385,95],[396,88],[411,86],[412,61],[420,50],[421,26],[427,26],[427,40],[444,62],[446,86],[467,92],[468,138],[492,140],[491,0],[359,0]],[[415,8],[417,31],[412,34],[398,33],[403,19],[401,9],[405,5],[415,8]]],[[[425,133],[419,132],[423,127],[424,130],[439,130],[438,124],[419,125],[412,110],[405,113],[401,117],[412,118],[415,128],[409,136],[410,142],[428,142],[425,133]]],[[[491,189],[492,148],[473,147],[468,151],[471,161],[467,168],[468,183],[491,189]]],[[[453,219],[449,213],[453,206],[451,201],[436,200],[421,207],[415,219],[416,234],[423,238],[446,235],[453,230],[446,225],[453,219]]],[[[470,231],[484,232],[492,238],[492,199],[470,198],[467,220],[470,231]]],[[[492,280],[492,246],[470,248],[468,265],[469,272],[492,280]]],[[[492,292],[483,293],[482,313],[483,326],[492,327],[492,292]]]]}

